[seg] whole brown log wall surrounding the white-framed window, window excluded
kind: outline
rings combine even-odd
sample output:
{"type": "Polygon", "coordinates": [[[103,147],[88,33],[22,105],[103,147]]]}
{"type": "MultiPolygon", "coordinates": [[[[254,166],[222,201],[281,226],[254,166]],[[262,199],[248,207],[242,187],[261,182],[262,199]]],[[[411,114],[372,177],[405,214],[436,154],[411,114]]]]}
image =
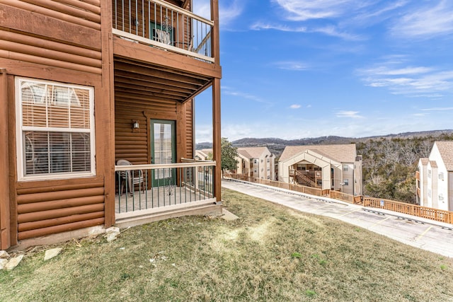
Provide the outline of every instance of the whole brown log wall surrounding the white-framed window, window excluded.
{"type": "MultiPolygon", "coordinates": [[[[110,18],[109,18],[110,19],[110,18]]],[[[111,26],[111,25],[110,25],[111,26]]],[[[108,112],[103,93],[100,0],[4,0],[0,4],[0,69],[8,76],[8,134],[16,146],[15,76],[61,81],[95,88],[96,177],[17,182],[16,152],[9,155],[10,242],[105,223],[105,161],[108,145],[102,126],[108,112]],[[102,106],[101,106],[102,107],[102,106]]],[[[109,61],[108,57],[105,58],[109,61]]],[[[4,75],[5,76],[5,75],[4,75]]],[[[3,122],[3,121],[2,121],[3,122]]],[[[2,200],[2,203],[4,201],[2,200]]],[[[4,207],[0,216],[4,215],[4,207]]],[[[1,228],[4,229],[2,219],[1,228]]],[[[5,239],[4,239],[5,238],[5,239]]]]}

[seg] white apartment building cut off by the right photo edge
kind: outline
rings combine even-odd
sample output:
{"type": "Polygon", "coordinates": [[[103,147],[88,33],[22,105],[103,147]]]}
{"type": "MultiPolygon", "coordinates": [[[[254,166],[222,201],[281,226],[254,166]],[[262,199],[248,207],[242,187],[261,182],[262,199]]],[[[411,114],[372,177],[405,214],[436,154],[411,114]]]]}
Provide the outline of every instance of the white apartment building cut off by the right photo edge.
{"type": "Polygon", "coordinates": [[[453,141],[435,141],[418,161],[416,179],[418,204],[453,211],[453,141]]]}

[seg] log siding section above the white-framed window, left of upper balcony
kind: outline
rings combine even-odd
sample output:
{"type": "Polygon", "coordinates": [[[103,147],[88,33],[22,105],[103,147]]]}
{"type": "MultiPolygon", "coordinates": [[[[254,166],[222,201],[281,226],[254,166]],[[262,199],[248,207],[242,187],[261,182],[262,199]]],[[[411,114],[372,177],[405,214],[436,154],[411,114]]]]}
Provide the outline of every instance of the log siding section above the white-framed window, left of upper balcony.
{"type": "Polygon", "coordinates": [[[2,1],[0,58],[101,74],[100,1],[61,2],[2,1]]]}

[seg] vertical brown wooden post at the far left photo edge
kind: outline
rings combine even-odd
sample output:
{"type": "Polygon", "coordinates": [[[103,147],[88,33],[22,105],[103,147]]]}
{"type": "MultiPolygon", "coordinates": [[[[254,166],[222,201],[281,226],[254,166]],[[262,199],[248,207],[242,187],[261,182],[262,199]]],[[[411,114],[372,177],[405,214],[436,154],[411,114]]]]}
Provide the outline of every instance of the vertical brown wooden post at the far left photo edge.
{"type": "Polygon", "coordinates": [[[11,246],[8,183],[8,82],[0,69],[0,250],[11,246]]]}

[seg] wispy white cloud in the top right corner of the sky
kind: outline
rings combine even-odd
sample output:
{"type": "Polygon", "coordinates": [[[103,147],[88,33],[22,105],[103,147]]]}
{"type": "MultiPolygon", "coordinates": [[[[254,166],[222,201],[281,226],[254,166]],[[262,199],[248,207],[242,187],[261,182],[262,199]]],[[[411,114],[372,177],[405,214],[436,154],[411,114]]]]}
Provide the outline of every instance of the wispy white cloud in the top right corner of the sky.
{"type": "Polygon", "coordinates": [[[431,38],[436,35],[453,33],[453,1],[442,0],[436,6],[428,1],[427,6],[419,7],[402,16],[391,28],[391,32],[403,38],[431,38]]]}

